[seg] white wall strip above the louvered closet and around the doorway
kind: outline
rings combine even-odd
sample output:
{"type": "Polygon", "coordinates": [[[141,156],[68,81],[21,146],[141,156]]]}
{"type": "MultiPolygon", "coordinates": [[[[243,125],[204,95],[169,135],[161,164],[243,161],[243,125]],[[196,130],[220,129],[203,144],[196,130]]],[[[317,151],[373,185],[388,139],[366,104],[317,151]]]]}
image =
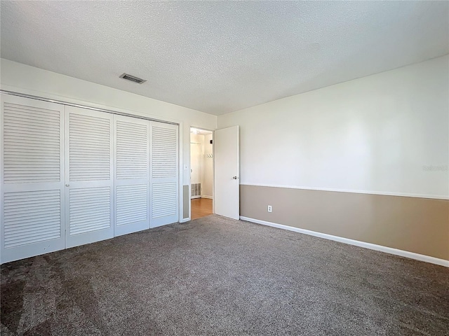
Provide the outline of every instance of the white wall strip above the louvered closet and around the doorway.
{"type": "MultiPolygon", "coordinates": [[[[184,174],[181,174],[181,185],[189,184],[190,180],[190,126],[195,125],[208,130],[217,128],[216,116],[175,104],[12,62],[8,59],[0,60],[0,69],[2,90],[179,123],[182,136],[181,167],[187,165],[187,169],[183,169],[184,174]]],[[[120,79],[117,78],[117,80],[120,79]]],[[[130,83],[130,85],[135,84],[130,83]]]]}

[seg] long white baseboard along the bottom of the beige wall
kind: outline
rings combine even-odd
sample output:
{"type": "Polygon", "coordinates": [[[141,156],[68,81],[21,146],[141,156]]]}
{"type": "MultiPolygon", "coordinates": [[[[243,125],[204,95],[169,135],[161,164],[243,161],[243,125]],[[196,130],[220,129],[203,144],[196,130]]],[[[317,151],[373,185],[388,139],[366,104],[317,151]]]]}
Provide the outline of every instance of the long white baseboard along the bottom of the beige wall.
{"type": "Polygon", "coordinates": [[[348,238],[343,238],[343,237],[338,237],[338,236],[333,236],[333,235],[327,235],[326,233],[315,232],[315,231],[311,231],[311,230],[304,230],[304,229],[300,229],[300,228],[294,228],[293,226],[282,225],[282,224],[277,224],[277,223],[272,223],[272,222],[267,222],[267,221],[261,221],[260,219],[248,218],[248,217],[244,217],[244,216],[240,216],[240,219],[242,221],[248,221],[248,222],[252,222],[252,223],[256,223],[256,224],[272,226],[273,228],[279,228],[279,229],[283,229],[283,230],[299,232],[299,233],[303,233],[304,235],[310,235],[310,236],[320,237],[320,238],[324,238],[324,239],[340,241],[340,243],[344,243],[344,244],[360,246],[360,247],[364,247],[364,248],[369,248],[370,250],[376,250],[376,251],[381,251],[381,252],[385,252],[385,253],[389,253],[389,254],[400,255],[401,257],[420,260],[420,261],[424,261],[424,262],[431,262],[432,264],[449,267],[449,260],[434,258],[429,255],[423,255],[423,254],[398,250],[397,248],[391,248],[391,247],[387,247],[387,246],[366,243],[365,241],[358,241],[358,240],[354,240],[354,239],[348,239],[348,238]]]}

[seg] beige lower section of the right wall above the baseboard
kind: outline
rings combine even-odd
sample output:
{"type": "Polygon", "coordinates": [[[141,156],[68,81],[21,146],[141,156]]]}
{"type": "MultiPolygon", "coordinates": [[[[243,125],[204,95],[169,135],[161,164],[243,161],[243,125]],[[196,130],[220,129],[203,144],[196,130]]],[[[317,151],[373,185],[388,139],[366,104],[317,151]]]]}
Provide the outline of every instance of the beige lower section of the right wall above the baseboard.
{"type": "Polygon", "coordinates": [[[241,185],[240,216],[449,260],[449,200],[241,185]]]}

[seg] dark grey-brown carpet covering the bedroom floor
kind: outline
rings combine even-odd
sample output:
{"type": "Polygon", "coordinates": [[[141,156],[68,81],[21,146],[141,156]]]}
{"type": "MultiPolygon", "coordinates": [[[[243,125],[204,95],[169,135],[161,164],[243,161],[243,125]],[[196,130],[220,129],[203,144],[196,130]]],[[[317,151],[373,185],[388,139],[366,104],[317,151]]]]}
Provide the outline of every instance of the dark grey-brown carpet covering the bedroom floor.
{"type": "Polygon", "coordinates": [[[2,265],[1,335],[449,335],[449,269],[213,215],[2,265]]]}

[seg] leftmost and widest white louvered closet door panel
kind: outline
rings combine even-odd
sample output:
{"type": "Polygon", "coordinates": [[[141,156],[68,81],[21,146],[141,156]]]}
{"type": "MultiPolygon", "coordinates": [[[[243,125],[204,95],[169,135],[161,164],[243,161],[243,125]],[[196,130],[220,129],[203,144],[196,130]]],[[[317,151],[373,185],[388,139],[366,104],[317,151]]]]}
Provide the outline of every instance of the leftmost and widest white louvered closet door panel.
{"type": "Polygon", "coordinates": [[[1,262],[65,246],[64,106],[1,94],[1,262]]]}

